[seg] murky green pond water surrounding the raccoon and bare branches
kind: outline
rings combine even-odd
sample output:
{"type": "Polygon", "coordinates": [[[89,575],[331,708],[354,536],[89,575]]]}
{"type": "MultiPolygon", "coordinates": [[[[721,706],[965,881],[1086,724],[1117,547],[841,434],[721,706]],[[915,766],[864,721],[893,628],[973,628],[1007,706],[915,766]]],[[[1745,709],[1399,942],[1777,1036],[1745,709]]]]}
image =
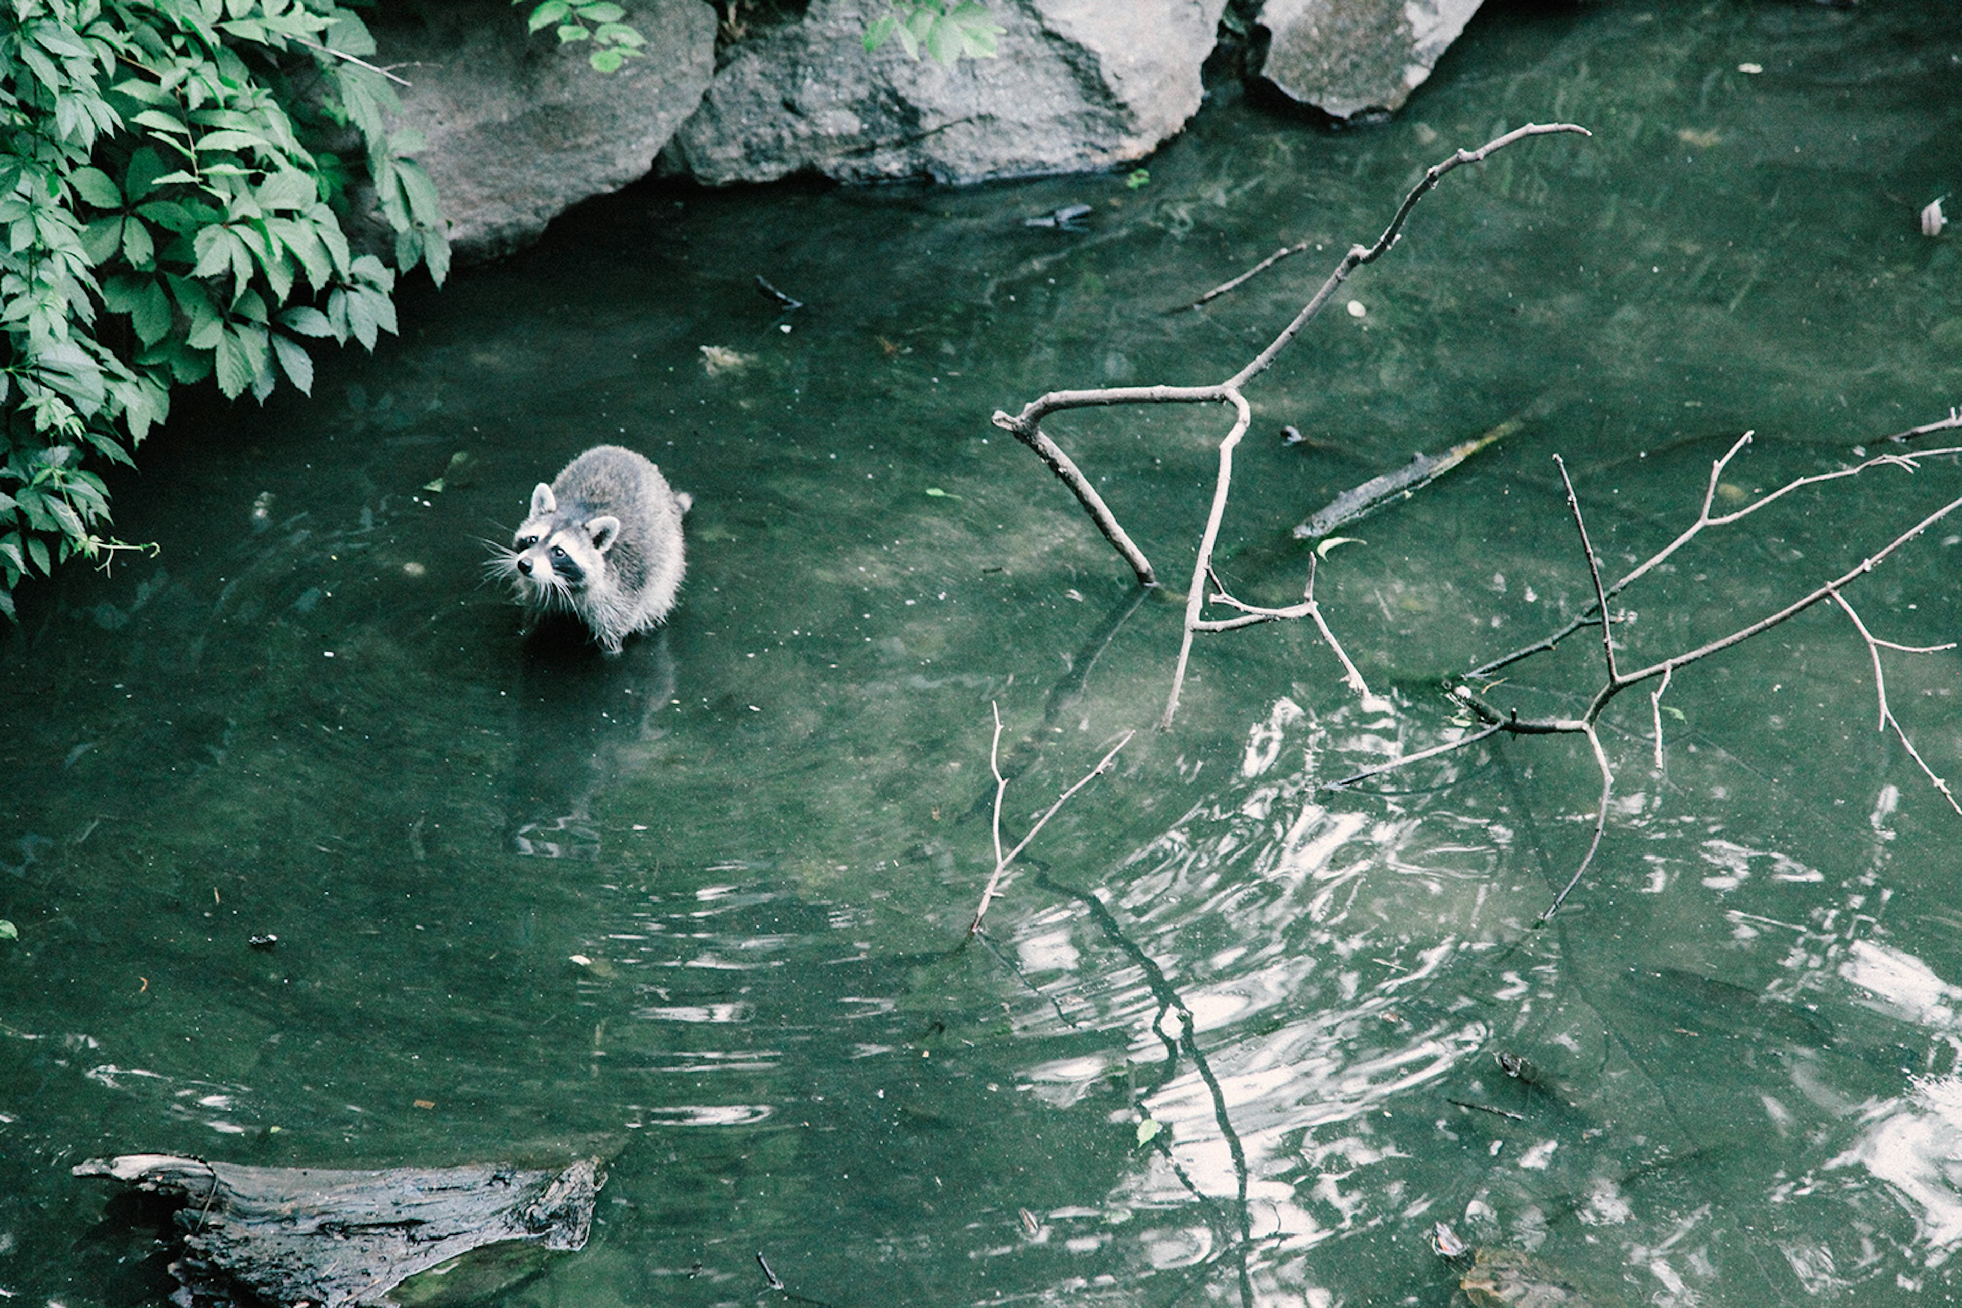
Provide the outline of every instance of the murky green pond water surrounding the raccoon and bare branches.
{"type": "MultiPolygon", "coordinates": [[[[1744,429],[1717,510],[1962,400],[1962,229],[1915,222],[1962,188],[1962,8],[1487,8],[1393,124],[1226,96],[1140,188],[638,188],[408,292],[310,402],[186,400],[114,486],[161,555],[0,635],[0,1296],[159,1300],[153,1228],[69,1169],[179,1151],[604,1155],[524,1308],[787,1302],[757,1253],[838,1308],[1464,1302],[1440,1220],[1601,1304],[1952,1298],[1962,816],[1876,731],[1844,614],[1609,710],[1607,833],[1546,930],[1593,830],[1577,737],[1322,784],[1464,731],[1440,679],[1589,602],[1552,455],[1621,575],[1744,429]],[[1183,606],[989,416],[1224,378],[1422,167],[1556,118],[1595,135],[1448,176],[1250,386],[1250,602],[1301,596],[1289,528],[1334,494],[1517,420],[1322,565],[1393,708],[1277,624],[1201,639],[1154,731],[1183,606]],[[1065,204],[1087,231],[1024,226],[1065,204]],[[695,496],[681,606],[610,663],[483,582],[600,441],[695,496]],[[957,949],[991,704],[1010,837],[1138,733],[957,949]]],[[[1224,410],[1048,426],[1183,590],[1224,410]]],[[[1958,494],[1936,457],[1711,529],[1617,600],[1621,657],[1958,494]]],[[[1962,633],[1958,539],[1846,588],[1878,637],[1962,633]]],[[[1962,657],[1884,661],[1962,775],[1962,657]]],[[[1599,637],[1505,677],[1577,712],[1599,637]]]]}

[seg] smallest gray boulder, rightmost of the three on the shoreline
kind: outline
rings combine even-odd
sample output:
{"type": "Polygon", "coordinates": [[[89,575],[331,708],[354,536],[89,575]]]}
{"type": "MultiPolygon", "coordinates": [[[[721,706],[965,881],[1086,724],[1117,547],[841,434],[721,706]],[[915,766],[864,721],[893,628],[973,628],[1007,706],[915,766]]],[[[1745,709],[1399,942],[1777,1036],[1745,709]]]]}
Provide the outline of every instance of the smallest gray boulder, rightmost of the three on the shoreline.
{"type": "Polygon", "coordinates": [[[1458,39],[1479,0],[1267,0],[1260,76],[1334,118],[1395,110],[1458,39]]]}

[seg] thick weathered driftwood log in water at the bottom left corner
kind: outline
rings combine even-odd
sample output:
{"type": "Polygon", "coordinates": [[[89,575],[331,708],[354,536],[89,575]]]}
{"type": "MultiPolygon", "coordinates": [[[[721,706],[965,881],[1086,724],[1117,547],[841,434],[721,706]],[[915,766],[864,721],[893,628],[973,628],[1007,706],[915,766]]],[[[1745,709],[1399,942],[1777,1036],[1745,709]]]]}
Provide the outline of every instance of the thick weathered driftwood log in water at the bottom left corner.
{"type": "Polygon", "coordinates": [[[179,1308],[387,1304],[402,1281],[483,1245],[581,1249],[604,1184],[598,1161],[322,1171],[126,1153],[73,1171],[184,1200],[179,1308]]]}

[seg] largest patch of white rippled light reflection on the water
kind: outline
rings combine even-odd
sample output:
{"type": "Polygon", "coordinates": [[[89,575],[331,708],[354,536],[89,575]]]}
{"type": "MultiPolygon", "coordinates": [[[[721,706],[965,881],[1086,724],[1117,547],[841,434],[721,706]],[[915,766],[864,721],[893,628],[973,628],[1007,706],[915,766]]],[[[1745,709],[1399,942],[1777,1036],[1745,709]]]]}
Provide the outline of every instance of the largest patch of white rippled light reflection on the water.
{"type": "MultiPolygon", "coordinates": [[[[1042,984],[1058,1012],[1130,1030],[1122,1059],[1052,1061],[1026,1069],[1024,1082],[1061,1106],[1128,1063],[1150,1084],[1140,1114],[1165,1128],[1165,1151],[1110,1204],[1179,1210],[1195,1194],[1244,1192],[1250,1235],[1283,1251],[1422,1206],[1375,1179],[1405,1155],[1369,1118],[1487,1041],[1481,1018],[1438,1012],[1426,992],[1501,926],[1487,882],[1511,831],[1428,800],[1317,790],[1322,759],[1352,771],[1358,757],[1395,755],[1407,747],[1401,729],[1377,712],[1317,718],[1277,700],[1250,728],[1228,790],[1105,877],[1105,914],[1065,904],[1061,920],[1052,910],[1022,926],[1026,973],[1083,957],[1073,977],[1042,984]],[[1112,931],[1128,937],[1128,959],[1110,953],[1112,931]],[[1175,1073],[1152,1084],[1150,1069],[1173,1057],[1175,1073]]],[[[1030,1016],[1024,1030],[1042,1028],[1030,1016]]],[[[1167,1226],[1140,1239],[1146,1261],[1165,1269],[1218,1257],[1222,1235],[1167,1226]]]]}

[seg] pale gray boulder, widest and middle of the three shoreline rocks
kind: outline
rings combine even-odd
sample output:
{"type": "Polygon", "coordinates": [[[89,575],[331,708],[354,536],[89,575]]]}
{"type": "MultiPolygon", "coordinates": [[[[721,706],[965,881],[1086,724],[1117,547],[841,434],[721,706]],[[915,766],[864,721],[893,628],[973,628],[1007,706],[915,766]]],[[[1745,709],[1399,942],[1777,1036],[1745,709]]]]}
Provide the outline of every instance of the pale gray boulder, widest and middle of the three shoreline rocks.
{"type": "Polygon", "coordinates": [[[812,0],[738,49],[661,159],[710,184],[1077,173],[1132,163],[1199,110],[1226,0],[989,0],[997,59],[867,53],[885,0],[812,0]]]}

